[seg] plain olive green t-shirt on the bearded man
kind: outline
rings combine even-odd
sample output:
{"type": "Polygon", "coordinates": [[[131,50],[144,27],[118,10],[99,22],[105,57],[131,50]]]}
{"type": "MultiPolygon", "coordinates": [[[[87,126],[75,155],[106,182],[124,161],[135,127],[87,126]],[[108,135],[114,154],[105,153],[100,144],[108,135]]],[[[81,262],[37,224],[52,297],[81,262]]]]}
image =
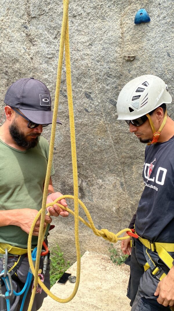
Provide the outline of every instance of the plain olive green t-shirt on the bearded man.
{"type": "MultiPolygon", "coordinates": [[[[27,151],[17,150],[0,140],[0,210],[41,209],[48,154],[49,144],[44,137],[27,151]]],[[[37,239],[33,236],[32,245],[37,244],[37,239]]],[[[27,248],[27,241],[28,234],[20,227],[0,227],[0,243],[27,248]]]]}

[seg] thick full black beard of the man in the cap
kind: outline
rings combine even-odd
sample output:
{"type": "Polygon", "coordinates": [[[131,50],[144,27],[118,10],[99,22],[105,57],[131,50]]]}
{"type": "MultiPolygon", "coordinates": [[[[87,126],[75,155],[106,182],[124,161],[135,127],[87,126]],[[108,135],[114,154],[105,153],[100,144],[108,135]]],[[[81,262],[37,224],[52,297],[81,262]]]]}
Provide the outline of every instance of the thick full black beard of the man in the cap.
{"type": "Polygon", "coordinates": [[[20,132],[18,126],[15,123],[15,120],[9,126],[9,132],[15,143],[26,150],[36,147],[39,142],[39,136],[41,135],[41,133],[35,133],[34,136],[37,135],[37,137],[32,141],[28,141],[27,136],[32,136],[32,134],[24,135],[23,132],[20,132]]]}

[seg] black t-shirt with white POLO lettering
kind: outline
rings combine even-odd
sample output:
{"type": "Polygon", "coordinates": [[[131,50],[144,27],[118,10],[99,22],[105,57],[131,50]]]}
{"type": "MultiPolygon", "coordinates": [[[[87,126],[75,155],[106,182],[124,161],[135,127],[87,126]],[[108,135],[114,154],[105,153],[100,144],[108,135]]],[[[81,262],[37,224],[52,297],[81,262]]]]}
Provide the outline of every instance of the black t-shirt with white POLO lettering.
{"type": "Polygon", "coordinates": [[[174,243],[174,137],[146,147],[142,176],[135,230],[153,242],[174,243]]]}

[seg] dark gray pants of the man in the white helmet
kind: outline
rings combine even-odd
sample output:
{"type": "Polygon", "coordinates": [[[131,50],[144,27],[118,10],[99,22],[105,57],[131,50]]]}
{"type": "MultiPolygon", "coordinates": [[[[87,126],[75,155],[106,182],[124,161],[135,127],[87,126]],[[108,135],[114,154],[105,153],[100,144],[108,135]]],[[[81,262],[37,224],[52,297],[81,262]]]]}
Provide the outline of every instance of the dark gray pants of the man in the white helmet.
{"type": "MultiPolygon", "coordinates": [[[[151,252],[151,257],[161,266],[157,253],[151,252]]],[[[151,275],[151,269],[144,271],[146,258],[143,245],[137,239],[133,239],[131,256],[125,262],[130,266],[130,278],[127,296],[131,299],[131,311],[169,311],[169,307],[159,304],[154,292],[159,281],[151,275]]],[[[165,271],[165,266],[162,267],[165,271]]]]}

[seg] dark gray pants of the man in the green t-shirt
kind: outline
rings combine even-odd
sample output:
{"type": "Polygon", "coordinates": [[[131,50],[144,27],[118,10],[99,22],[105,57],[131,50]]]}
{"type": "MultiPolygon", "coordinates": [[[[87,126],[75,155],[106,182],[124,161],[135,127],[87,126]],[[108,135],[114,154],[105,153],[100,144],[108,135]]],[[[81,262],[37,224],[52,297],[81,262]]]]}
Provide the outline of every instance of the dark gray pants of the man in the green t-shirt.
{"type": "MultiPolygon", "coordinates": [[[[16,257],[8,258],[8,270],[14,265],[15,261],[16,261],[16,257]]],[[[43,267],[43,257],[41,257],[41,260],[40,260],[40,268],[42,269],[42,267],[43,267]]],[[[25,284],[25,281],[27,278],[27,274],[28,274],[28,269],[29,269],[28,258],[25,257],[24,260],[22,261],[19,269],[17,269],[17,271],[16,271],[16,273],[18,275],[17,281],[13,280],[13,288],[16,292],[20,292],[22,290],[22,288],[24,287],[24,284],[25,284]]],[[[0,259],[0,272],[2,270],[3,270],[2,269],[2,259],[0,259]]],[[[48,260],[44,284],[46,285],[46,287],[48,287],[50,289],[50,260],[48,260]]],[[[31,293],[32,293],[32,285],[33,285],[33,281],[31,283],[29,290],[28,290],[28,294],[27,294],[27,297],[25,299],[23,311],[28,310],[28,305],[29,305],[30,297],[31,297],[31,293]]],[[[6,287],[5,287],[5,285],[2,285],[2,293],[4,294],[5,292],[6,292],[6,287]]],[[[47,295],[43,290],[42,290],[41,294],[38,293],[35,295],[32,311],[37,311],[39,308],[41,308],[41,305],[43,303],[43,299],[46,296],[47,295]]],[[[20,311],[22,298],[23,298],[23,295],[21,295],[21,296],[12,295],[11,296],[11,298],[10,298],[11,311],[20,311]]],[[[0,311],[7,311],[6,300],[3,299],[2,297],[0,297],[0,311]]]]}

